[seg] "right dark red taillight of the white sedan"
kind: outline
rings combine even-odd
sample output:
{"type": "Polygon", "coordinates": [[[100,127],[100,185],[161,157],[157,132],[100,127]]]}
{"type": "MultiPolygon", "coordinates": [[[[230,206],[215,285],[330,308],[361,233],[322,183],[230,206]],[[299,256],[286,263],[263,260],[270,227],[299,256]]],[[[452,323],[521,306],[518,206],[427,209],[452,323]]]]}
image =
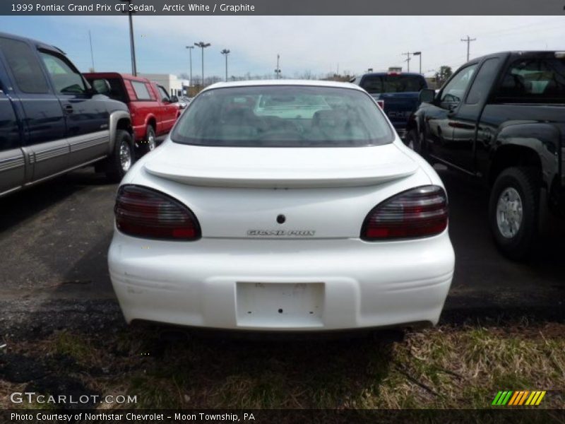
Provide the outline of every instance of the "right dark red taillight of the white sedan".
{"type": "Polygon", "coordinates": [[[447,227],[444,189],[429,185],[397,194],[373,208],[365,218],[363,240],[428,237],[447,227]]]}

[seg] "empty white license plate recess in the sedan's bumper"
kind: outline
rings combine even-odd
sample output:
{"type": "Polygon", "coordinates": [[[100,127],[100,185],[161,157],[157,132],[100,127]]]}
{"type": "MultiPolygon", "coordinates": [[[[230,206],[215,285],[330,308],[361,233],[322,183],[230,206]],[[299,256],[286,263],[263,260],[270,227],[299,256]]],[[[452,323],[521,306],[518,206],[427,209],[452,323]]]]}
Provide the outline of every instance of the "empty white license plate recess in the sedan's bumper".
{"type": "Polygon", "coordinates": [[[323,283],[236,283],[237,325],[322,326],[323,283]]]}

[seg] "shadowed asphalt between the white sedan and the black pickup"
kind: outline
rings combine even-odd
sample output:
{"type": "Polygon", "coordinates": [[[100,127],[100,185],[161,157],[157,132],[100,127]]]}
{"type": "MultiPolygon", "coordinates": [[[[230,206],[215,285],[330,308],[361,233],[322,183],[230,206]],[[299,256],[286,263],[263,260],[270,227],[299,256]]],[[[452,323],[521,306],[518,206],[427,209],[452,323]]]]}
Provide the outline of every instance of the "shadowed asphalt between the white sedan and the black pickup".
{"type": "Polygon", "coordinates": [[[449,234],[455,275],[444,318],[483,314],[565,318],[565,230],[539,240],[525,263],[503,257],[489,231],[486,189],[456,172],[437,169],[450,202],[449,234]]]}

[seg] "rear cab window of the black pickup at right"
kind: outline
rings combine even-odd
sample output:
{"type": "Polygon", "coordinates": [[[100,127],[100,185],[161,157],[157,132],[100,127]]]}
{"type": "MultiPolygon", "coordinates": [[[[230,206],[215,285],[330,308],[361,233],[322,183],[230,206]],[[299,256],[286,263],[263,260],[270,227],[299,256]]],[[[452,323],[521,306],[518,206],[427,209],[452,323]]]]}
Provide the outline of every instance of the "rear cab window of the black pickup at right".
{"type": "Polygon", "coordinates": [[[565,59],[521,59],[506,71],[501,102],[565,103],[565,59]]]}

